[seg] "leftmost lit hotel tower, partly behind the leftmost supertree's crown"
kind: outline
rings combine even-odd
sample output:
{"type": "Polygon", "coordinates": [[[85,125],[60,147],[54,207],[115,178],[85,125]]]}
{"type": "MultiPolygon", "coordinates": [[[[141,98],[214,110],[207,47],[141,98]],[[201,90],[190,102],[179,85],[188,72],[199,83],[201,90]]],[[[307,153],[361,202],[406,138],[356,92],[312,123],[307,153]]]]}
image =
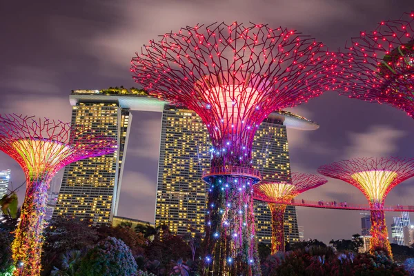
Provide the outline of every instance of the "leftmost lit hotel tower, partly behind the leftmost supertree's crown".
{"type": "Polygon", "coordinates": [[[72,127],[112,137],[118,141],[119,149],[66,166],[54,215],[75,215],[91,224],[112,220],[119,199],[130,119],[129,111],[117,101],[75,101],[72,127]]]}

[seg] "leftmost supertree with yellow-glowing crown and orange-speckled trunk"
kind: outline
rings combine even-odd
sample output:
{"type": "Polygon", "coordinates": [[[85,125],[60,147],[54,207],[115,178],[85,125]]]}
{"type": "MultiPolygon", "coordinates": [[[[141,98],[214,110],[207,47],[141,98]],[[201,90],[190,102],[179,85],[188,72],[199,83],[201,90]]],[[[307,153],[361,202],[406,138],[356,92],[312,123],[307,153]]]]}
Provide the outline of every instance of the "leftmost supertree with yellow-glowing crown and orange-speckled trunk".
{"type": "Polygon", "coordinates": [[[26,175],[26,197],[12,244],[14,275],[40,275],[47,190],[58,170],[86,157],[117,150],[116,141],[70,123],[22,115],[0,115],[0,150],[12,157],[26,175]]]}

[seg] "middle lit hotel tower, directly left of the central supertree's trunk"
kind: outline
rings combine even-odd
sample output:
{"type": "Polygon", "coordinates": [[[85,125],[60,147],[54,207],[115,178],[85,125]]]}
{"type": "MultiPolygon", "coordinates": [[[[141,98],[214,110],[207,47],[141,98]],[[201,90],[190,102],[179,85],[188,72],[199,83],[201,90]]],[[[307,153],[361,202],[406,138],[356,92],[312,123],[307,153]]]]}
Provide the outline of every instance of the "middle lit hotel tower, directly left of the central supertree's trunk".
{"type": "Polygon", "coordinates": [[[155,226],[165,224],[180,235],[204,233],[208,186],[201,175],[210,165],[209,148],[206,126],[195,112],[165,106],[155,226]]]}

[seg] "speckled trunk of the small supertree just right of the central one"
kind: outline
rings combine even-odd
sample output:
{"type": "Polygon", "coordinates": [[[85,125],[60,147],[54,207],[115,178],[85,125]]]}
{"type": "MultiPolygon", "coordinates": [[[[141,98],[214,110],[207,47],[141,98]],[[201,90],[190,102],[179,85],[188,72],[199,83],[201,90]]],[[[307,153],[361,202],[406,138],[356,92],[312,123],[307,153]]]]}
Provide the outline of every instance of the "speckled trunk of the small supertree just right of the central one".
{"type": "Polygon", "coordinates": [[[284,212],[286,205],[269,204],[272,213],[272,255],[285,251],[284,212]]]}

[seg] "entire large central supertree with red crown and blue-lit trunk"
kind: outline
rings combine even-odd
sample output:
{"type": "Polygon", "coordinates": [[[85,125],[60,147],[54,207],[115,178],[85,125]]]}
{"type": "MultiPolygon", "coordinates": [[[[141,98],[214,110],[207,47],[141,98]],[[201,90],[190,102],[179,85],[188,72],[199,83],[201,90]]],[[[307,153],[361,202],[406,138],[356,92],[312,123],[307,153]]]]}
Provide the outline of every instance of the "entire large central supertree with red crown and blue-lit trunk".
{"type": "Polygon", "coordinates": [[[194,110],[213,148],[205,273],[259,275],[251,168],[255,131],[270,112],[317,97],[331,84],[333,58],[286,28],[239,23],[181,28],[150,41],[132,63],[152,95],[194,110]]]}

